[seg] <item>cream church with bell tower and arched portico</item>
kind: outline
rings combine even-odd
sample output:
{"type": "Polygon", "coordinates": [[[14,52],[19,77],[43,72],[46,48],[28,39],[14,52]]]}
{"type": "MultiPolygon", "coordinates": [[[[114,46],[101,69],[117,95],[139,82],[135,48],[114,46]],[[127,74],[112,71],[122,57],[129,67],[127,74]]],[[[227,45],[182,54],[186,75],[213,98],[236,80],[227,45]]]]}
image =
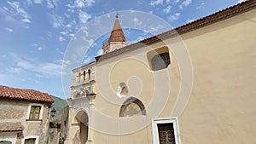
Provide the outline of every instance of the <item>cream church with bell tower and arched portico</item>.
{"type": "Polygon", "coordinates": [[[256,143],[256,1],[127,43],[118,15],[73,69],[65,144],[256,143]]]}

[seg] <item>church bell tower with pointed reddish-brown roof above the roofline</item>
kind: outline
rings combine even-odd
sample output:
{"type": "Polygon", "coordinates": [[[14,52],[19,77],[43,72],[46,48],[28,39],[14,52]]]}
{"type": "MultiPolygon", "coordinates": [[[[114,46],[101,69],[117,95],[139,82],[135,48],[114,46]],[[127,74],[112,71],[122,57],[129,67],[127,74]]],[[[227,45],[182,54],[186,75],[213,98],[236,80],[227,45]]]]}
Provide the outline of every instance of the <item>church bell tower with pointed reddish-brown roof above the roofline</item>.
{"type": "Polygon", "coordinates": [[[108,43],[103,43],[102,52],[106,54],[115,49],[121,49],[128,45],[122,27],[119,23],[119,14],[116,14],[113,24],[113,30],[108,38],[108,43]]]}

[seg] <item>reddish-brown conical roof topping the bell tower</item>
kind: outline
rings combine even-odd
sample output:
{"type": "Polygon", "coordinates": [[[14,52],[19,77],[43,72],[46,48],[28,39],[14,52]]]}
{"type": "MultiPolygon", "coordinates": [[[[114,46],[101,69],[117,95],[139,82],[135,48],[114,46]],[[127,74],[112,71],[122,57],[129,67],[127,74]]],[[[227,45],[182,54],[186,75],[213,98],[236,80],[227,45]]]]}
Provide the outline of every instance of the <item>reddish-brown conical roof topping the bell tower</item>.
{"type": "MultiPolygon", "coordinates": [[[[113,30],[111,32],[111,35],[108,39],[109,42],[126,42],[126,38],[124,35],[124,32],[121,28],[121,25],[119,23],[118,14],[116,15],[116,19],[114,21],[113,30]]],[[[126,42],[127,43],[127,42],[126,42]]]]}

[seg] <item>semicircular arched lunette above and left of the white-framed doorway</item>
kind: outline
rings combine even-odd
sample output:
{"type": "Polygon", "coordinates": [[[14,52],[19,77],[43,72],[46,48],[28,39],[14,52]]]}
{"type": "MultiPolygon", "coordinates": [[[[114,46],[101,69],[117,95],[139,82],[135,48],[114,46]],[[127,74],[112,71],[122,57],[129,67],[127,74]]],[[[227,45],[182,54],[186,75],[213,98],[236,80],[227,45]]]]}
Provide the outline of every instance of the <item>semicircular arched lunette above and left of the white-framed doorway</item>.
{"type": "Polygon", "coordinates": [[[132,117],[134,115],[146,115],[146,110],[142,101],[131,97],[121,106],[119,117],[132,117]]]}

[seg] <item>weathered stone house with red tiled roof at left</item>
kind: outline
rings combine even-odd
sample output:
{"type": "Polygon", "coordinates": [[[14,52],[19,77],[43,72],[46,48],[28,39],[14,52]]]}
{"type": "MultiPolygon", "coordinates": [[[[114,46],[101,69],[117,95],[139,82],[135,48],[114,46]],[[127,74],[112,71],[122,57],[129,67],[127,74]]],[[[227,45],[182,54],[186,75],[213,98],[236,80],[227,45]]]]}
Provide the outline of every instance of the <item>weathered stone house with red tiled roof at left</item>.
{"type": "Polygon", "coordinates": [[[49,111],[54,102],[48,94],[0,86],[0,98],[0,143],[47,143],[49,111]]]}

